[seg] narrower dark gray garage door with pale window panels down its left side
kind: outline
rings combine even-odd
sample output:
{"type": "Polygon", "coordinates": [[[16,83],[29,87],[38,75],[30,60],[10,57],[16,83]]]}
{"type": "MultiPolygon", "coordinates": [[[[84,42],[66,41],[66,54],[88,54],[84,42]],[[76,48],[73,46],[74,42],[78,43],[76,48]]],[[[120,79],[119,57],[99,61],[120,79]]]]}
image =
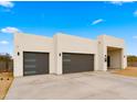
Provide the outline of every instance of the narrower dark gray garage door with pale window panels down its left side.
{"type": "Polygon", "coordinates": [[[23,75],[49,73],[49,54],[46,53],[23,53],[23,75]]]}

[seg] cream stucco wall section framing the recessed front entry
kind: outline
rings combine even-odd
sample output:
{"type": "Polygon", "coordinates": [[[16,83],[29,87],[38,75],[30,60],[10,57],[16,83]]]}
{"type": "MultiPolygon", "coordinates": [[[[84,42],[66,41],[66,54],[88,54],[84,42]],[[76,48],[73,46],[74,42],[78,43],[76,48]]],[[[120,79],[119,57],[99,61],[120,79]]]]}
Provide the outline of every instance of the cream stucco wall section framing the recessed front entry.
{"type": "Polygon", "coordinates": [[[126,47],[124,39],[116,38],[113,36],[101,35],[97,38],[98,41],[98,65],[99,70],[107,70],[107,61],[105,58],[107,57],[107,47],[117,47],[122,48],[122,68],[127,67],[127,57],[126,57],[126,47]]]}

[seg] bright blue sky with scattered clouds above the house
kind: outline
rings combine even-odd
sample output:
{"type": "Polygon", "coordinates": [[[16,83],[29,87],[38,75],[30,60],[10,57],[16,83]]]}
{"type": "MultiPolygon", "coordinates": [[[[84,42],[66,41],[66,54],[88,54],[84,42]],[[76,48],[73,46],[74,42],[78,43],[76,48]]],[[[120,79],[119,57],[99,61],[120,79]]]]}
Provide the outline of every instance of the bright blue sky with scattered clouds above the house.
{"type": "Polygon", "coordinates": [[[137,2],[0,2],[0,53],[12,54],[12,32],[107,34],[124,38],[127,53],[137,55],[137,2]]]}

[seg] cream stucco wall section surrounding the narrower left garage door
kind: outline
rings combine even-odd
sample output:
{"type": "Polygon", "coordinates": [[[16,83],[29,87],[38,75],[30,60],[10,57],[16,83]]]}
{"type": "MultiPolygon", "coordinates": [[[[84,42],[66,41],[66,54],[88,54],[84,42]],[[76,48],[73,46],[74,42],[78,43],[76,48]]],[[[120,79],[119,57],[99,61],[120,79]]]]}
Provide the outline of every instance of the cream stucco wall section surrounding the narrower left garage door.
{"type": "Polygon", "coordinates": [[[50,54],[50,73],[55,72],[54,69],[54,46],[53,38],[31,35],[14,34],[14,76],[23,76],[23,52],[42,52],[50,54]],[[20,55],[18,56],[18,53],[20,55]]]}

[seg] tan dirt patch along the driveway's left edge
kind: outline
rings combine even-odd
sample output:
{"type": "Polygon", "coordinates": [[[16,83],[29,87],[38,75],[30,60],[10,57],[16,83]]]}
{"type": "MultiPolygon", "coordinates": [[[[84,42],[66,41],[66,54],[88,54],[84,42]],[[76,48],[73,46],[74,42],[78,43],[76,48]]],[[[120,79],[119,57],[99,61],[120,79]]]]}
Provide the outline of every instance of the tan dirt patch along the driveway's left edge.
{"type": "Polygon", "coordinates": [[[0,72],[0,100],[4,99],[12,81],[13,75],[11,72],[0,72]]]}

